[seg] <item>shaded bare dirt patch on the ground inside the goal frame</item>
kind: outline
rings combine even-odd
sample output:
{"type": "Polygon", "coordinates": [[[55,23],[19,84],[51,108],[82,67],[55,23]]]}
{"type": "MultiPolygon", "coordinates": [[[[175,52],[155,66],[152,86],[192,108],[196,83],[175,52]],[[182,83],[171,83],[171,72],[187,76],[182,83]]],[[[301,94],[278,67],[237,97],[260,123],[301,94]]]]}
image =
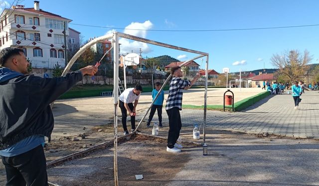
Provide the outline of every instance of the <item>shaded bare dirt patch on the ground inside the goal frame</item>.
{"type": "MultiPolygon", "coordinates": [[[[195,146],[183,143],[184,149],[195,146]]],[[[131,137],[119,145],[118,168],[120,186],[160,186],[171,180],[189,161],[188,154],[171,154],[163,149],[166,140],[145,135],[131,137]],[[143,175],[136,180],[135,175],[143,175]]],[[[48,169],[48,180],[61,186],[114,185],[113,148],[97,150],[83,158],[48,169]]]]}

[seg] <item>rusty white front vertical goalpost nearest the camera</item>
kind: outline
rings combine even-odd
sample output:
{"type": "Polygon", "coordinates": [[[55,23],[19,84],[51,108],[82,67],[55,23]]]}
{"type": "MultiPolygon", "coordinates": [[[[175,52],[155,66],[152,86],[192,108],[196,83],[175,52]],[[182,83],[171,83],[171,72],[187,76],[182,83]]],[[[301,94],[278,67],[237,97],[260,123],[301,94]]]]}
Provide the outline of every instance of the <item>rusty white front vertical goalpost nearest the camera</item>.
{"type": "Polygon", "coordinates": [[[119,102],[119,36],[114,33],[114,185],[119,186],[118,180],[118,102],[119,102]]]}

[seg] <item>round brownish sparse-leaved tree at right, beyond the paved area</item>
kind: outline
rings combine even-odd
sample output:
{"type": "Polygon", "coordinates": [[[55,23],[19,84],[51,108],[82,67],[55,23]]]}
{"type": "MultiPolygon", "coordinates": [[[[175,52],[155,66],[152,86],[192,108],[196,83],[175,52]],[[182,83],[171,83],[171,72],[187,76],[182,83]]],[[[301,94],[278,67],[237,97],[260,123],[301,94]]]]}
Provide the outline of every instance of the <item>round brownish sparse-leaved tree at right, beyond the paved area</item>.
{"type": "Polygon", "coordinates": [[[285,51],[283,55],[274,54],[271,63],[279,68],[280,75],[288,78],[292,84],[305,76],[308,70],[308,63],[312,60],[309,52],[305,50],[304,55],[298,50],[285,51]]]}

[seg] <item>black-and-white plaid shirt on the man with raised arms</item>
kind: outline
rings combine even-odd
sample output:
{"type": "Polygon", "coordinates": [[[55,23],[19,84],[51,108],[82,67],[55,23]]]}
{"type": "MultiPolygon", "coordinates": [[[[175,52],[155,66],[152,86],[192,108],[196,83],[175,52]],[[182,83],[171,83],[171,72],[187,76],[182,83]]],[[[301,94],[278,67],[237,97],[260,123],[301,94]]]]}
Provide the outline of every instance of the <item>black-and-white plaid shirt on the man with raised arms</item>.
{"type": "Polygon", "coordinates": [[[166,110],[178,107],[181,110],[181,100],[183,89],[190,86],[190,81],[183,80],[180,77],[173,77],[169,84],[169,93],[166,102],[166,110]]]}

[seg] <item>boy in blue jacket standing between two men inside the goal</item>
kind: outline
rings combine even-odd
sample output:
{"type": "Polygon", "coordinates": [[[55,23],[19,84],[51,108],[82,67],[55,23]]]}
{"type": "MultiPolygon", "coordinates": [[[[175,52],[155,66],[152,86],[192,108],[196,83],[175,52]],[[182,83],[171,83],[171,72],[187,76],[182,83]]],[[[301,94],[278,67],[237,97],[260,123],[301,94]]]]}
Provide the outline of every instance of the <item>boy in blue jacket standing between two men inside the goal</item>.
{"type": "MultiPolygon", "coordinates": [[[[152,91],[153,100],[155,99],[156,95],[160,91],[160,87],[161,87],[160,82],[156,82],[155,83],[155,89],[152,91]]],[[[154,116],[156,110],[158,110],[159,126],[163,127],[162,124],[161,124],[161,109],[163,107],[163,101],[164,101],[164,91],[160,91],[160,95],[159,95],[158,99],[156,99],[156,101],[152,105],[151,113],[150,113],[150,116],[149,116],[149,121],[146,124],[147,127],[150,127],[150,124],[152,122],[152,119],[153,119],[153,116],[154,116]]]]}

